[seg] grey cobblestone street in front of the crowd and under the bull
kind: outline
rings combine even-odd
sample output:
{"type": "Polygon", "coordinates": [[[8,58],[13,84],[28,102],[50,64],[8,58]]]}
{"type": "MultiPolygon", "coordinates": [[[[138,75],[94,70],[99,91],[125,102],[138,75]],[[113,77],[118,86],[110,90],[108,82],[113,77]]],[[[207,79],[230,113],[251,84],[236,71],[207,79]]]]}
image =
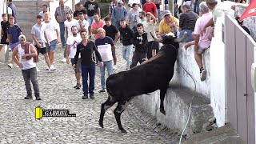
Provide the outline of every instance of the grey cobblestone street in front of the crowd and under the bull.
{"type": "MultiPolygon", "coordinates": [[[[117,44],[118,70],[125,67],[122,47],[117,44]],[[124,66],[122,68],[122,66],[124,66]]],[[[11,53],[10,53],[11,54],[11,53]]],[[[101,89],[97,66],[95,99],[82,100],[82,89],[75,90],[76,81],[71,64],[61,62],[63,49],[58,47],[55,55],[54,72],[46,71],[46,62],[39,56],[38,83],[42,101],[25,100],[26,89],[22,72],[14,65],[10,69],[0,64],[0,143],[178,143],[178,134],[154,129],[148,115],[141,114],[134,105],[122,114],[122,125],[127,134],[118,130],[112,106],[106,111],[104,129],[98,126],[100,106],[106,101],[101,89]],[[35,119],[35,107],[43,109],[66,108],[75,118],[35,119]]],[[[117,72],[118,70],[115,70],[117,72]]],[[[131,102],[132,103],[132,102],[131,102]]]]}

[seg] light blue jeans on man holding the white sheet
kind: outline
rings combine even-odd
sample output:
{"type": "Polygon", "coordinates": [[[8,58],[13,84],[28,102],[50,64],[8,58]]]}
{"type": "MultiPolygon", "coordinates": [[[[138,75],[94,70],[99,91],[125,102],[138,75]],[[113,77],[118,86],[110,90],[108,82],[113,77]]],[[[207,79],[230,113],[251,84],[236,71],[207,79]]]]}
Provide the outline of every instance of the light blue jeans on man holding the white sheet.
{"type": "Polygon", "coordinates": [[[99,70],[101,72],[101,84],[102,84],[102,89],[106,89],[106,84],[105,84],[105,68],[107,70],[108,75],[113,74],[113,65],[112,65],[112,60],[103,62],[103,66],[99,66],[99,70]]]}

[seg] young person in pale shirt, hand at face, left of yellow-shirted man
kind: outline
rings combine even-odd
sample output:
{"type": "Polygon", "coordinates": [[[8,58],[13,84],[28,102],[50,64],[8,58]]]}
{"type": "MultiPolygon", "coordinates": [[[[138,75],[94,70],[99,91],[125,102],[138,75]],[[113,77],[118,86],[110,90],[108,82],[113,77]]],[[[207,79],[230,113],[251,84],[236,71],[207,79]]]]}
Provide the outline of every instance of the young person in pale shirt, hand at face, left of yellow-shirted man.
{"type": "Polygon", "coordinates": [[[157,24],[157,20],[154,17],[153,14],[150,12],[146,13],[146,22],[142,22],[145,32],[147,33],[147,59],[150,59],[152,57],[152,44],[154,42],[154,38],[156,38],[154,27],[157,24]],[[151,34],[154,35],[154,38],[152,38],[151,34]]]}

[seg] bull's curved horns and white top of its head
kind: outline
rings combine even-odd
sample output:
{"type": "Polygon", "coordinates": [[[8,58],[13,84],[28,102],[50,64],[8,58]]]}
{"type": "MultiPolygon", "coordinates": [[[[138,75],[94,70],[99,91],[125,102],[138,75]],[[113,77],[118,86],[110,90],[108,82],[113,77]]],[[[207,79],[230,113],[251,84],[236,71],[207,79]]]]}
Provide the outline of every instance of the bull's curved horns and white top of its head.
{"type": "Polygon", "coordinates": [[[162,42],[163,44],[165,43],[171,43],[171,42],[182,42],[185,38],[187,33],[185,32],[182,35],[182,38],[176,38],[175,34],[173,32],[170,32],[166,34],[163,38],[155,38],[154,35],[150,32],[152,38],[154,38],[155,42],[162,42]]]}

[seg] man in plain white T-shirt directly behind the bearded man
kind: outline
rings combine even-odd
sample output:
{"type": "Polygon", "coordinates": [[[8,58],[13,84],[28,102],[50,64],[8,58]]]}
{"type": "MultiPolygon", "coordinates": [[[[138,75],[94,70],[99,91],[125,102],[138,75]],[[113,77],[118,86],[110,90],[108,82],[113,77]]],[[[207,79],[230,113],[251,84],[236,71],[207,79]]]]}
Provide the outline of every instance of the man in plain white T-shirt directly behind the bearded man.
{"type": "MultiPolygon", "coordinates": [[[[66,29],[66,38],[72,35],[71,27],[75,26],[77,20],[73,19],[70,13],[66,13],[66,21],[64,22],[64,26],[66,29]]],[[[64,50],[64,55],[66,55],[66,49],[64,50]]],[[[66,62],[66,58],[62,59],[62,62],[66,62]]]]}

